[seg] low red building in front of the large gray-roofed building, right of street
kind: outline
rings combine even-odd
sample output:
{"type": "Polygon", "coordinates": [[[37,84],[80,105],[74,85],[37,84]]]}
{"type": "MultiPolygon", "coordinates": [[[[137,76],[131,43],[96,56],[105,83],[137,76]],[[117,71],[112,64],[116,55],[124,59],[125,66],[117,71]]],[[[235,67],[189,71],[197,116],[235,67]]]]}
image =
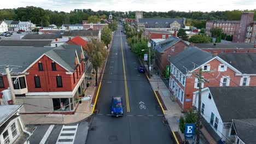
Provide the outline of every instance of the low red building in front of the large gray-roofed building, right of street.
{"type": "Polygon", "coordinates": [[[156,30],[150,30],[145,29],[143,32],[144,37],[148,39],[168,39],[169,37],[172,37],[174,33],[171,31],[156,31],[156,30]]]}

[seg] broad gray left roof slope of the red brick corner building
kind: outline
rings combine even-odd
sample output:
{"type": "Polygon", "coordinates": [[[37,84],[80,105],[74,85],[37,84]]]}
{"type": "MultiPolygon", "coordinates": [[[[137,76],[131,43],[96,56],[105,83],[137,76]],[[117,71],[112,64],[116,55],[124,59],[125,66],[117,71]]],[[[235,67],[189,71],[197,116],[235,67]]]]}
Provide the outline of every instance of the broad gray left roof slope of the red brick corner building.
{"type": "MultiPolygon", "coordinates": [[[[54,49],[54,47],[0,46],[0,65],[22,66],[22,68],[14,67],[15,69],[11,71],[12,73],[21,73],[43,53],[51,49],[54,49]]],[[[0,66],[0,73],[5,73],[4,66],[0,66]]]]}

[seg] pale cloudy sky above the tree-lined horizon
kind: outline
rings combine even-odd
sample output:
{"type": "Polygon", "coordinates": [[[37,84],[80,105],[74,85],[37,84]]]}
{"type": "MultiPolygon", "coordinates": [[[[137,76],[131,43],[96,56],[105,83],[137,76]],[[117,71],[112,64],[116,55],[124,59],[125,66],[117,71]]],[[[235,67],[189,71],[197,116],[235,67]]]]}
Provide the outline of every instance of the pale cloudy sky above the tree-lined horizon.
{"type": "Polygon", "coordinates": [[[69,12],[73,9],[115,11],[217,11],[256,9],[255,0],[8,0],[0,9],[33,5],[43,9],[69,12]]]}

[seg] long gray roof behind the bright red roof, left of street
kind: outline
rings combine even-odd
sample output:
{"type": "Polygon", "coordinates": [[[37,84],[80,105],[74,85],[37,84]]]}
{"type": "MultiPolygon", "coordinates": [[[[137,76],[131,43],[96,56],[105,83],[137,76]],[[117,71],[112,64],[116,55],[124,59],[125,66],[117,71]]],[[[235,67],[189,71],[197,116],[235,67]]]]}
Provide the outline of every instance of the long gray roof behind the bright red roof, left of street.
{"type": "Polygon", "coordinates": [[[74,30],[74,31],[67,31],[63,33],[63,36],[98,36],[99,31],[85,31],[85,30],[74,30]]]}

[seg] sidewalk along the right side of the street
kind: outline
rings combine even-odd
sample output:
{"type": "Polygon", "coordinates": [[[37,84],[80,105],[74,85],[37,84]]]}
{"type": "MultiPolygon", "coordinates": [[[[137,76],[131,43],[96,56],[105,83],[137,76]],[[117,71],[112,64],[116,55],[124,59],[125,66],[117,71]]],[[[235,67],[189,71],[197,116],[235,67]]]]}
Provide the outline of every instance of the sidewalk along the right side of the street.
{"type": "MultiPolygon", "coordinates": [[[[148,70],[147,63],[143,62],[144,67],[148,70]]],[[[179,123],[178,120],[181,116],[184,117],[184,114],[182,113],[181,107],[179,107],[178,103],[176,101],[173,101],[171,99],[171,92],[165,85],[165,82],[161,79],[159,75],[156,75],[154,70],[151,73],[151,79],[148,79],[150,82],[150,85],[152,86],[154,91],[158,91],[163,103],[166,107],[165,111],[165,118],[167,119],[170,128],[174,133],[179,133],[181,137],[184,137],[184,134],[181,133],[179,130],[179,123]]],[[[161,101],[161,100],[160,100],[161,101]]],[[[182,138],[183,139],[183,138],[182,138]]]]}

